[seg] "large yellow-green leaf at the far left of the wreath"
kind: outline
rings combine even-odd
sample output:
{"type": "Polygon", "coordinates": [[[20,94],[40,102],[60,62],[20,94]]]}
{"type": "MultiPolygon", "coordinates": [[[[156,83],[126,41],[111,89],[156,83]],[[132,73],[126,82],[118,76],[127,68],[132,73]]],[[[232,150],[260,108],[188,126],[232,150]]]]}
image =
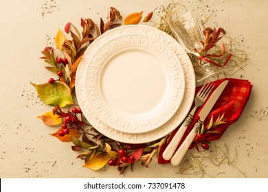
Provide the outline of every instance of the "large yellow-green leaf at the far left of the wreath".
{"type": "Polygon", "coordinates": [[[36,88],[39,98],[47,105],[65,107],[73,104],[71,91],[63,82],[31,84],[36,88]]]}

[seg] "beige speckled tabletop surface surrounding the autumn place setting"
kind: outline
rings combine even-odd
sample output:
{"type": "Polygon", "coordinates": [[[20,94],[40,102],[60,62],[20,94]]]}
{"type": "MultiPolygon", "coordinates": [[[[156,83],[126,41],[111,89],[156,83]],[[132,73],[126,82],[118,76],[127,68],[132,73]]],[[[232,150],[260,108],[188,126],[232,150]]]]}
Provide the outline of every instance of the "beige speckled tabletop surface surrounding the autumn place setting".
{"type": "MultiPolygon", "coordinates": [[[[183,3],[183,1],[180,1],[183,3]]],[[[185,1],[186,4],[188,1],[185,1]]],[[[100,16],[114,6],[122,16],[131,12],[155,10],[170,1],[164,0],[38,0],[1,1],[0,6],[0,177],[1,178],[199,178],[200,173],[181,175],[178,167],[158,165],[156,159],[146,169],[135,165],[119,176],[116,169],[100,171],[82,168],[83,161],[71,151],[71,143],[60,143],[49,128],[36,117],[51,110],[38,99],[30,82],[41,84],[51,76],[39,60],[41,51],[52,46],[58,27],[100,16]]],[[[227,160],[221,166],[205,163],[205,171],[216,178],[267,178],[268,158],[268,1],[267,0],[190,0],[206,15],[212,14],[210,26],[223,27],[236,40],[234,47],[247,53],[247,66],[232,76],[247,79],[254,85],[241,116],[213,145],[228,146],[227,160]],[[237,154],[235,156],[235,149],[237,154]],[[243,172],[243,173],[242,173],[243,172]],[[244,176],[245,175],[245,176],[244,176]]],[[[156,20],[157,14],[154,19],[156,20]]],[[[205,175],[205,177],[209,177],[205,175]]]]}

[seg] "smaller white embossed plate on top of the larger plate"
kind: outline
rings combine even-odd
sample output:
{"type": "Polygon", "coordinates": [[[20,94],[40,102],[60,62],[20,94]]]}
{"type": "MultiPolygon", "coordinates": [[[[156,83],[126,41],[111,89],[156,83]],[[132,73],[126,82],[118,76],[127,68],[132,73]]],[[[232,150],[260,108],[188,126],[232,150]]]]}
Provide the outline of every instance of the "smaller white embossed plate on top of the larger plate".
{"type": "Polygon", "coordinates": [[[170,120],[181,104],[185,81],[170,47],[131,33],[102,44],[88,60],[85,88],[93,112],[103,123],[138,134],[170,120]]]}

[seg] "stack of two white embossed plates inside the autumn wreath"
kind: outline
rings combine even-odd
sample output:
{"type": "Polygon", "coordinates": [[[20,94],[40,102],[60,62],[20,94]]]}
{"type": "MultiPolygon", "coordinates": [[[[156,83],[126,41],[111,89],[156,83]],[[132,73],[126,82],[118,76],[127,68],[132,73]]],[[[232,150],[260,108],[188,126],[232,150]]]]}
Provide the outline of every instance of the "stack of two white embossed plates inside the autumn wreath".
{"type": "Polygon", "coordinates": [[[175,130],[194,91],[187,53],[174,38],[145,25],[102,34],[76,72],[76,96],[87,121],[123,143],[148,143],[175,130]]]}

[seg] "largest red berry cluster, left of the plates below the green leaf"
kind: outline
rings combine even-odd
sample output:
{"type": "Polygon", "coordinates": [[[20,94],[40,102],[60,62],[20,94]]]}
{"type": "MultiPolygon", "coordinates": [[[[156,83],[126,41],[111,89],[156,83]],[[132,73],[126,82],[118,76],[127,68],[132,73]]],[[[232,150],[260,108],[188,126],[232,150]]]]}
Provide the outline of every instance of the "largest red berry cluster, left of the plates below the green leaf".
{"type": "Polygon", "coordinates": [[[72,108],[71,112],[69,112],[64,119],[63,124],[61,125],[61,128],[63,130],[60,130],[58,132],[59,136],[65,136],[65,134],[69,134],[69,128],[80,128],[80,121],[77,117],[78,114],[82,114],[82,110],[80,108],[72,108]]]}

